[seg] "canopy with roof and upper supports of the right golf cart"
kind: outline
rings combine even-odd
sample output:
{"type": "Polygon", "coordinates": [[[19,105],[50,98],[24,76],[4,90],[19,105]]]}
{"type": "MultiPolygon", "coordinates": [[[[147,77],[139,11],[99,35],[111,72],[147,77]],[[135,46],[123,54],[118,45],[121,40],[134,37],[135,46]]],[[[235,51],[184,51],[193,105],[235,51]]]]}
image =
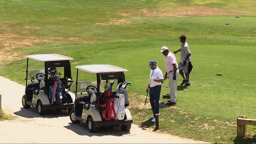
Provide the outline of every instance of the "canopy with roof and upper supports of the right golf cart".
{"type": "Polygon", "coordinates": [[[88,73],[96,73],[97,76],[97,92],[100,92],[101,80],[118,80],[118,83],[125,82],[124,72],[128,71],[121,67],[107,64],[95,64],[95,65],[80,65],[77,68],[77,79],[78,70],[86,71],[88,73]]]}

